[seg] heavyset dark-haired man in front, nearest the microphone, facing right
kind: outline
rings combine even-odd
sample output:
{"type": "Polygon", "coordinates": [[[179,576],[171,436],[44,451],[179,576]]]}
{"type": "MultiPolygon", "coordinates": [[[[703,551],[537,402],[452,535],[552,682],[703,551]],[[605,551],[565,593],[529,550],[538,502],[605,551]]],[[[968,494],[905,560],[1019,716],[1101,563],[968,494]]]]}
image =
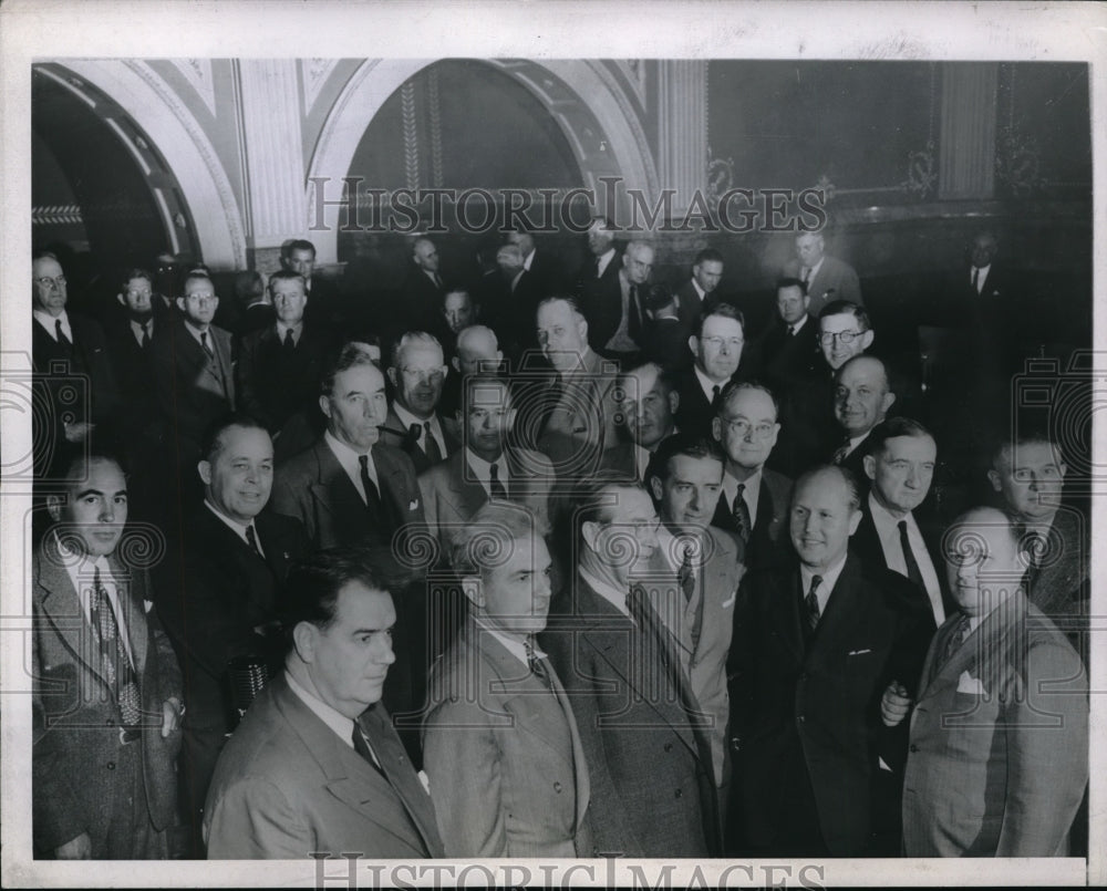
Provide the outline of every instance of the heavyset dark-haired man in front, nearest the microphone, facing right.
{"type": "Polygon", "coordinates": [[[345,550],[297,563],[288,582],[284,667],[219,756],[208,858],[442,857],[434,806],[381,703],[395,661],[387,583],[345,550]]]}

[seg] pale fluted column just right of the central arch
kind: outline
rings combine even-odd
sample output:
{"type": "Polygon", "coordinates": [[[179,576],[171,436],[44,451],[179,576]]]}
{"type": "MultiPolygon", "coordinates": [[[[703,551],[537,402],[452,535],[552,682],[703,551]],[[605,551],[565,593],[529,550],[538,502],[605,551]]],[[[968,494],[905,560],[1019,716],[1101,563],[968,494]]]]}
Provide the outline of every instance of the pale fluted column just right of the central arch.
{"type": "Polygon", "coordinates": [[[675,189],[672,209],[689,209],[707,190],[707,63],[671,59],[658,63],[658,146],[661,188],[675,189]]]}

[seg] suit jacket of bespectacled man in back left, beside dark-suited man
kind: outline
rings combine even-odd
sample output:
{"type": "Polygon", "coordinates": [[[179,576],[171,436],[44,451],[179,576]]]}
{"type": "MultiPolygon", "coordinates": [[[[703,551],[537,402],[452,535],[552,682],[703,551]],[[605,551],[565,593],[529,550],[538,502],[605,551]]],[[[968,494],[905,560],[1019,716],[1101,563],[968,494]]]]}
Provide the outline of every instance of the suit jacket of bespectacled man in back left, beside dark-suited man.
{"type": "Polygon", "coordinates": [[[177,463],[183,467],[197,459],[207,426],[236,405],[230,334],[215,325],[208,332],[214,359],[182,319],[158,332],[151,355],[165,435],[176,441],[177,463]]]}

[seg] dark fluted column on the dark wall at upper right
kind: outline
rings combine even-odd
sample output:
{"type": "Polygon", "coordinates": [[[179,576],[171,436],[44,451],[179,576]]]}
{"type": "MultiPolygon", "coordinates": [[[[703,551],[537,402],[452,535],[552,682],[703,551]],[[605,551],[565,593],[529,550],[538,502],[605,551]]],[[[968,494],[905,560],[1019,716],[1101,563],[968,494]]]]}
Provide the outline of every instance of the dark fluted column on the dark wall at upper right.
{"type": "Polygon", "coordinates": [[[995,191],[995,116],[999,65],[942,65],[938,197],[986,200],[995,191]]]}

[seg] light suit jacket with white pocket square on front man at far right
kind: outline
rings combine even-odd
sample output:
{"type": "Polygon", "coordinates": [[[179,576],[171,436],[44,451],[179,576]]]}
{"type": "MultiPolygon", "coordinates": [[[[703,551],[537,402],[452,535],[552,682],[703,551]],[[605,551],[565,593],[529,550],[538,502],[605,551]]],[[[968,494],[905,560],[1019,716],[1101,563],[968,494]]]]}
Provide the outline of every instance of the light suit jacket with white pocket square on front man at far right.
{"type": "Polygon", "coordinates": [[[927,654],[903,785],[908,857],[1056,857],[1088,778],[1079,656],[1021,591],[927,654]]]}

